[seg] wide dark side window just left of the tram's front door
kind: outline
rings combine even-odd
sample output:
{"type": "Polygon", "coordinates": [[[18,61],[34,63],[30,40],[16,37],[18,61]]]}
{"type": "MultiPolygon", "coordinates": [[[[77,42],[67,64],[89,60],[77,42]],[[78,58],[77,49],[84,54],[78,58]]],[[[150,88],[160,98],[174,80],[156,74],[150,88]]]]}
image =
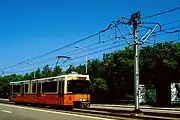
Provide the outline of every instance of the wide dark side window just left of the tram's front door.
{"type": "Polygon", "coordinates": [[[57,92],[57,81],[42,83],[42,92],[44,93],[57,92]]]}

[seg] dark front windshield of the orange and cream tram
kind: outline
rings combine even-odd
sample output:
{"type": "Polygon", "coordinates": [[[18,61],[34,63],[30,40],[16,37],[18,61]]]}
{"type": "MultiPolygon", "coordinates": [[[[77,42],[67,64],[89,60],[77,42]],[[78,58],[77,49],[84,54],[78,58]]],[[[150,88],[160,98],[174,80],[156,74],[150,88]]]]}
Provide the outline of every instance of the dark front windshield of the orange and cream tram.
{"type": "Polygon", "coordinates": [[[68,92],[74,94],[85,94],[89,92],[90,82],[87,80],[69,80],[68,81],[68,92]]]}

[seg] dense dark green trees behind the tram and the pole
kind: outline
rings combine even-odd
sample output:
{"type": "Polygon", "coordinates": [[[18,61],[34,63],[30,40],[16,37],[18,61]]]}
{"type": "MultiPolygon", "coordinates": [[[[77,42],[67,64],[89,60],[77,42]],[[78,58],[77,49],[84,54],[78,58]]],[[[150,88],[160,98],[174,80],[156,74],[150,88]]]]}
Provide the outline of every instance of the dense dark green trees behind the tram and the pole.
{"type": "MultiPolygon", "coordinates": [[[[169,104],[170,83],[180,81],[180,43],[161,43],[156,46],[141,48],[140,84],[155,87],[157,103],[169,104]]],[[[94,102],[115,102],[133,99],[134,51],[128,47],[124,50],[104,54],[103,59],[88,61],[88,74],[91,78],[91,94],[94,102]]],[[[72,66],[63,71],[58,66],[54,69],[48,65],[43,70],[37,69],[36,78],[56,76],[69,71],[85,73],[85,65],[72,66]]],[[[33,79],[34,73],[25,76],[9,75],[0,77],[1,95],[9,92],[9,81],[33,79]]]]}

